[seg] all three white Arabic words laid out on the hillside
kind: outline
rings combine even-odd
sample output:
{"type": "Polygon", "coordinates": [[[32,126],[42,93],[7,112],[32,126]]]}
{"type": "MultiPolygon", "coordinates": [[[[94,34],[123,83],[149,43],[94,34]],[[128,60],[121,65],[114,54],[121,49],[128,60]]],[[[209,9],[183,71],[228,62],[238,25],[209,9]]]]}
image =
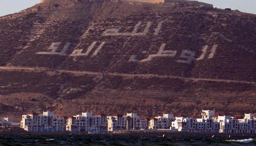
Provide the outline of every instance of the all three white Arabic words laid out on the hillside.
{"type": "MultiPolygon", "coordinates": [[[[163,21],[160,21],[157,24],[157,27],[155,28],[153,35],[157,36],[159,34],[159,32],[161,30],[161,27],[162,27],[162,24],[163,24],[163,21]]],[[[151,25],[152,25],[152,22],[148,22],[146,24],[143,32],[138,32],[138,29],[141,26],[141,22],[138,22],[135,25],[133,31],[130,32],[130,33],[120,33],[118,29],[106,29],[103,32],[102,36],[130,36],[130,37],[131,36],[146,36],[148,34],[149,30],[150,30],[151,25]]],[[[96,56],[106,43],[107,42],[105,42],[105,41],[102,41],[102,42],[93,41],[91,43],[91,45],[87,48],[86,52],[82,53],[83,50],[84,50],[83,48],[82,49],[81,48],[80,49],[75,49],[70,54],[70,56],[75,56],[75,57],[77,57],[77,56],[88,56],[89,53],[93,50],[93,48],[96,48],[96,49],[92,53],[91,57],[96,56]],[[96,44],[98,46],[95,47],[96,44]]],[[[70,46],[71,43],[70,42],[66,43],[64,45],[64,47],[62,48],[62,50],[60,52],[57,52],[60,44],[61,44],[61,42],[53,42],[50,45],[50,47],[48,48],[49,50],[51,50],[50,52],[38,52],[37,54],[68,56],[66,51],[67,51],[67,49],[68,49],[68,47],[70,46]]],[[[151,61],[155,57],[175,57],[176,54],[177,54],[177,50],[165,50],[165,46],[166,46],[166,43],[162,43],[157,54],[149,54],[147,58],[142,59],[142,60],[136,59],[137,55],[131,55],[129,61],[131,61],[131,62],[146,62],[146,61],[151,61]]],[[[212,46],[211,53],[209,54],[208,59],[213,58],[213,56],[216,52],[217,46],[218,45],[213,45],[212,46]]],[[[177,62],[179,62],[179,63],[188,63],[189,64],[194,60],[202,60],[202,59],[204,59],[204,57],[207,53],[207,50],[208,50],[208,45],[203,46],[201,55],[196,59],[195,58],[195,55],[196,55],[195,51],[184,49],[184,50],[182,50],[182,52],[180,54],[180,58],[183,58],[183,59],[179,59],[177,62]]]]}

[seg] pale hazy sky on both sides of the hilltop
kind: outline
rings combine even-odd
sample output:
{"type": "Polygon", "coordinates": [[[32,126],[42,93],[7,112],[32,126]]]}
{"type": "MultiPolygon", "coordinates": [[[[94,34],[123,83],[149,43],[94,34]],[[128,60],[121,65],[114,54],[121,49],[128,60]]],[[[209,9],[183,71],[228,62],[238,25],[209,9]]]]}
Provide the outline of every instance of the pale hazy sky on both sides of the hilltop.
{"type": "MultiPolygon", "coordinates": [[[[201,2],[213,4],[214,7],[232,10],[239,10],[241,12],[256,14],[256,0],[198,0],[201,2]]],[[[0,16],[17,13],[21,10],[27,9],[40,0],[1,0],[0,16]]]]}

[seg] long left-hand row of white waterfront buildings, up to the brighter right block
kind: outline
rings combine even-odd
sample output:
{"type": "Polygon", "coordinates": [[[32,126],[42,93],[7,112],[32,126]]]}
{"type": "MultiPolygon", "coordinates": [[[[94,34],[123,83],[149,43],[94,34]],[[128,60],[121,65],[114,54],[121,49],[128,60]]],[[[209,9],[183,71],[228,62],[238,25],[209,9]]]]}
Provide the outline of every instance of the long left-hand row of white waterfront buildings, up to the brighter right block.
{"type": "Polygon", "coordinates": [[[116,130],[139,130],[139,129],[169,129],[174,121],[173,114],[163,114],[153,118],[140,118],[137,113],[126,115],[95,114],[82,112],[82,115],[70,117],[56,116],[53,112],[35,112],[22,115],[21,128],[26,131],[116,131],[116,130]]]}

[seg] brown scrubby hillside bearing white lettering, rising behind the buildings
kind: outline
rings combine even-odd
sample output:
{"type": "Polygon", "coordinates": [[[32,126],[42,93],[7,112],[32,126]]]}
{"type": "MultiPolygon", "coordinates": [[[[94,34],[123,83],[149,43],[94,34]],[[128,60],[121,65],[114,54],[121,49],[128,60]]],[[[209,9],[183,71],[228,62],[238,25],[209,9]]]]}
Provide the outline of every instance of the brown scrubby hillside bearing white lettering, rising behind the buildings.
{"type": "Polygon", "coordinates": [[[255,26],[239,11],[107,0],[0,17],[0,114],[256,112],[255,26]]]}

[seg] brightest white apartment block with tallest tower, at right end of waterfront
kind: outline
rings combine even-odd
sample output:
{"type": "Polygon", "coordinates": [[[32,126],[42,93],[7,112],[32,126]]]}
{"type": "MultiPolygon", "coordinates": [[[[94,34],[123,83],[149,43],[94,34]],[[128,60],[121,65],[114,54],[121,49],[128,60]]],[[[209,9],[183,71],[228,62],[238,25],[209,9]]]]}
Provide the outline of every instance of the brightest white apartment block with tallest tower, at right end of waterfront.
{"type": "Polygon", "coordinates": [[[255,133],[255,114],[246,114],[243,119],[226,115],[214,115],[215,110],[202,110],[202,118],[176,117],[170,129],[177,131],[215,133],[255,133]]]}

